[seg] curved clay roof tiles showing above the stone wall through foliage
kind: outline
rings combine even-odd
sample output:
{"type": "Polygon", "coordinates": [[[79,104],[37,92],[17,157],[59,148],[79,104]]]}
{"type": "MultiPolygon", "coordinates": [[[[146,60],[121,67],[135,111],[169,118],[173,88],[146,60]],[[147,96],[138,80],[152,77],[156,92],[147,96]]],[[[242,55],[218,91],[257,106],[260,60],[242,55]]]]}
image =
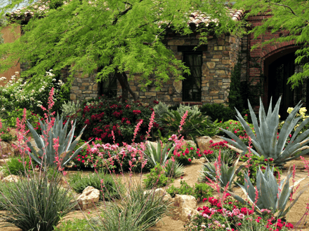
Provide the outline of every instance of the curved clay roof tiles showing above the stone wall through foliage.
{"type": "MultiPolygon", "coordinates": [[[[244,10],[229,9],[229,11],[230,18],[232,18],[232,20],[234,21],[242,20],[242,18],[244,17],[244,10]]],[[[208,27],[210,22],[214,22],[217,25],[218,21],[218,18],[211,19],[211,17],[207,16],[206,14],[195,11],[191,13],[188,24],[190,26],[195,25],[196,27],[198,27],[199,25],[205,25],[206,27],[208,27]]]]}

